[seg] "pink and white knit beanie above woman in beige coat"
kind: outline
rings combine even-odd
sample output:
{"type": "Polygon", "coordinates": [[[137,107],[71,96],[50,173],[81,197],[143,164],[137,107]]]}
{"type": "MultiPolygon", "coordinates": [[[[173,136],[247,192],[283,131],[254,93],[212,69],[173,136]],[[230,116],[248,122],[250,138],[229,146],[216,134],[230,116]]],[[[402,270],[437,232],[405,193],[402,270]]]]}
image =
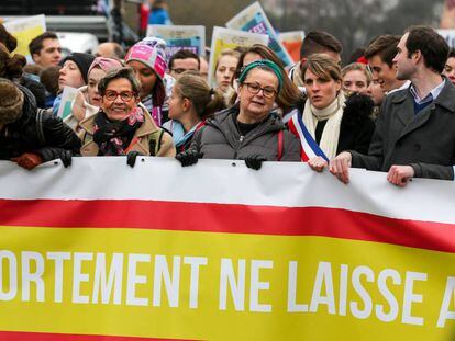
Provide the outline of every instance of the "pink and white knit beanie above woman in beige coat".
{"type": "Polygon", "coordinates": [[[125,62],[137,60],[145,64],[163,81],[167,69],[166,42],[157,37],[146,37],[133,45],[125,56],[125,62]]]}

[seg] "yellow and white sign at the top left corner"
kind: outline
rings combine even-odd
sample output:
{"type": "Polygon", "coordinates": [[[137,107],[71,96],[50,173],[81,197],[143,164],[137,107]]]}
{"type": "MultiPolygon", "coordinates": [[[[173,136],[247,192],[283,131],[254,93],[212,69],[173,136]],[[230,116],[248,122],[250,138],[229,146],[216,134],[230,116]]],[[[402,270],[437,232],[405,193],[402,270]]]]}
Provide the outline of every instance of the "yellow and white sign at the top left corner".
{"type": "Polygon", "coordinates": [[[30,42],[46,32],[44,14],[7,21],[3,25],[18,39],[18,47],[14,49],[14,53],[21,54],[31,60],[29,52],[30,42]]]}

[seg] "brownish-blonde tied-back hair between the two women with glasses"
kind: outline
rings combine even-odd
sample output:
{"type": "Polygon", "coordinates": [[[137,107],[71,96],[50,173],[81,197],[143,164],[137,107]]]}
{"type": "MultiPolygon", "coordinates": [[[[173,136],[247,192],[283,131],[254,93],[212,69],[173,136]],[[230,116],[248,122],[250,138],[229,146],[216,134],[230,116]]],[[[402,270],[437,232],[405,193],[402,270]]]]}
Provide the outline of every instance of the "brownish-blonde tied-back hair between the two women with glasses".
{"type": "Polygon", "coordinates": [[[178,94],[191,102],[201,120],[225,107],[223,92],[211,89],[199,71],[185,71],[174,88],[178,94]]]}

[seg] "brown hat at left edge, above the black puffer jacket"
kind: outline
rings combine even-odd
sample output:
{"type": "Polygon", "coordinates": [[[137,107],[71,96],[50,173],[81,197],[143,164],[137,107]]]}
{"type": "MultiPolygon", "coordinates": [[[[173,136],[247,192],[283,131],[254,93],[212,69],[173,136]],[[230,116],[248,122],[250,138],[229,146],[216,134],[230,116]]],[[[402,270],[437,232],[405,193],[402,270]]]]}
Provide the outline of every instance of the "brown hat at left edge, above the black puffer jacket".
{"type": "Polygon", "coordinates": [[[10,124],[22,116],[24,94],[9,79],[0,78],[0,123],[10,124]]]}

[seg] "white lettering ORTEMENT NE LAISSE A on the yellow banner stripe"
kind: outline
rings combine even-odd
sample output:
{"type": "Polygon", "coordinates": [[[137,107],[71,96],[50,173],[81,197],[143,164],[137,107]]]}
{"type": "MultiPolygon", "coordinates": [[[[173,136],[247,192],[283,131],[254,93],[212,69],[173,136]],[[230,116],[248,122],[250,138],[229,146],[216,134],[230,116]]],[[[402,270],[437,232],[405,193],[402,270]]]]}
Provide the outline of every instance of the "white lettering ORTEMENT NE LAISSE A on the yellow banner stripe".
{"type": "MultiPolygon", "coordinates": [[[[188,307],[197,309],[199,308],[200,282],[203,281],[201,269],[208,264],[207,257],[57,251],[45,253],[22,251],[18,257],[10,250],[1,250],[0,302],[51,299],[54,303],[62,303],[69,299],[73,304],[123,304],[159,308],[163,306],[163,295],[166,295],[168,306],[176,308],[180,306],[179,297],[182,294],[180,292],[186,289],[184,296],[189,297],[188,307]],[[46,269],[47,263],[49,263],[49,269],[46,269]],[[189,266],[182,266],[182,264],[189,266]],[[52,268],[55,268],[54,273],[52,268]],[[67,276],[64,276],[65,268],[67,276]],[[184,271],[187,273],[185,279],[189,279],[188,286],[181,286],[184,271]],[[21,275],[20,286],[18,286],[19,274],[21,275]],[[123,281],[126,283],[125,287],[122,285],[123,281]],[[138,286],[146,284],[153,286],[151,297],[138,297],[138,286]],[[55,293],[46,298],[47,285],[54,287],[55,293]],[[65,288],[70,288],[70,297],[64,297],[65,288]]],[[[281,282],[274,284],[265,281],[267,270],[274,269],[274,261],[247,261],[245,259],[234,261],[222,258],[219,264],[218,308],[220,310],[245,311],[249,309],[249,311],[268,314],[273,311],[273,305],[259,297],[260,293],[269,292],[275,284],[281,284],[281,282]],[[249,291],[248,307],[245,307],[246,289],[249,291]],[[230,299],[233,303],[232,308],[228,305],[230,299]]],[[[351,315],[357,319],[376,317],[379,321],[387,323],[400,321],[404,325],[424,325],[424,317],[413,315],[412,308],[415,304],[423,303],[424,293],[419,292],[415,284],[428,281],[426,273],[411,271],[400,273],[395,269],[384,269],[375,273],[366,265],[351,269],[347,264],[339,264],[337,271],[332,262],[326,261],[319,262],[317,266],[314,279],[303,277],[298,281],[299,262],[288,262],[288,312],[351,315]],[[376,286],[375,292],[373,292],[373,286],[376,286]],[[306,294],[299,294],[299,291],[306,294]],[[403,292],[402,302],[399,302],[393,294],[398,291],[403,292]],[[380,303],[374,302],[373,297],[379,296],[376,292],[384,298],[380,303]],[[347,293],[356,295],[348,297],[347,293]]],[[[302,273],[308,270],[303,269],[302,273]]],[[[454,299],[455,277],[448,276],[437,319],[439,328],[444,328],[447,320],[455,320],[454,299]]]]}

